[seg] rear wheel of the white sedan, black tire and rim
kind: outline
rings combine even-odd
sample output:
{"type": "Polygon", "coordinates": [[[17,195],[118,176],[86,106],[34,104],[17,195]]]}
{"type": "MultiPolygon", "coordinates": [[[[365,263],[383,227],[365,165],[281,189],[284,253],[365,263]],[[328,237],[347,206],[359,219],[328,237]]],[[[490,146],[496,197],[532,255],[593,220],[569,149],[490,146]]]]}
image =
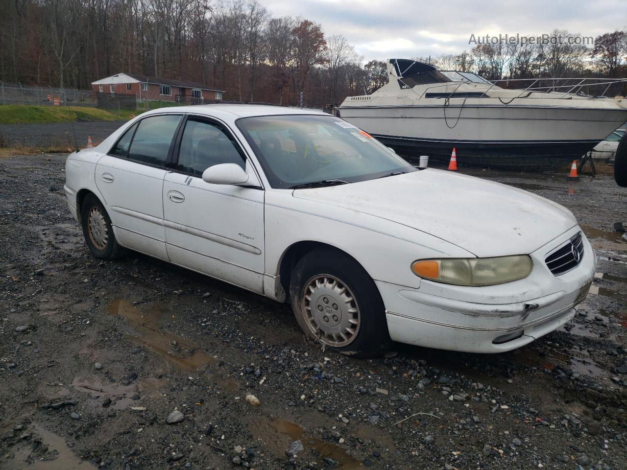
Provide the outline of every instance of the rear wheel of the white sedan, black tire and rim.
{"type": "Polygon", "coordinates": [[[95,258],[119,259],[126,250],[117,243],[111,219],[98,198],[89,194],[80,207],[85,243],[95,258]]]}

